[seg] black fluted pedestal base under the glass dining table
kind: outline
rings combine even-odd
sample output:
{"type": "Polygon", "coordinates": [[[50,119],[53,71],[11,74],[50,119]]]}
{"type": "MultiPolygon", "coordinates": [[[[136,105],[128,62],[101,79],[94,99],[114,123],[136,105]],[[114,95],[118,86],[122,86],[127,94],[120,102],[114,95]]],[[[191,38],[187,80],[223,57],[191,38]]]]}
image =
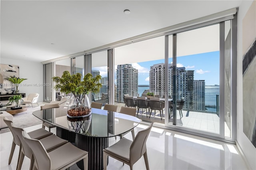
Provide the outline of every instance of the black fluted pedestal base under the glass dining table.
{"type": "MultiPolygon", "coordinates": [[[[108,147],[108,138],[85,136],[56,127],[56,135],[75,143],[75,146],[88,152],[88,170],[103,170],[103,149],[108,147]]],[[[83,170],[83,160],[76,163],[83,170]]]]}

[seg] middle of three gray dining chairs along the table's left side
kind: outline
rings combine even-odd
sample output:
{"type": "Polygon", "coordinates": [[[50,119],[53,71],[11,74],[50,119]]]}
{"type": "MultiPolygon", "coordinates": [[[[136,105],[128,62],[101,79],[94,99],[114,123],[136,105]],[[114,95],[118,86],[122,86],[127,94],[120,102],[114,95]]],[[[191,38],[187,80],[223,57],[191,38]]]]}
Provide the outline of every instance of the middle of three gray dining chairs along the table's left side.
{"type": "MultiPolygon", "coordinates": [[[[33,157],[32,150],[30,149],[28,144],[24,141],[24,139],[22,138],[22,132],[24,131],[24,129],[16,127],[16,125],[14,123],[11,123],[11,125],[12,125],[13,132],[18,136],[20,143],[21,143],[20,155],[19,155],[18,164],[17,164],[16,169],[17,170],[21,169],[24,156],[26,156],[30,159],[30,170],[32,170],[33,165],[34,165],[34,157],[33,157]]],[[[57,137],[55,134],[52,134],[50,136],[40,139],[40,142],[42,142],[45,150],[47,152],[50,152],[50,151],[60,147],[61,145],[67,143],[68,141],[57,137]]]]}

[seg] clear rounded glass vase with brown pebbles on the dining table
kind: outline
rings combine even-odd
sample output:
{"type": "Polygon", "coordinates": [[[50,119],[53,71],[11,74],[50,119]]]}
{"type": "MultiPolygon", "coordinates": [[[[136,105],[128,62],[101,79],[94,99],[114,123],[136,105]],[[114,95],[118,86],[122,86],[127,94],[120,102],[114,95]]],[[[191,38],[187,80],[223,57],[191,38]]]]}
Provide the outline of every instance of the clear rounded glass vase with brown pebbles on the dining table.
{"type": "Polygon", "coordinates": [[[92,114],[92,108],[87,95],[72,95],[68,104],[67,116],[71,118],[87,117],[92,114]]]}

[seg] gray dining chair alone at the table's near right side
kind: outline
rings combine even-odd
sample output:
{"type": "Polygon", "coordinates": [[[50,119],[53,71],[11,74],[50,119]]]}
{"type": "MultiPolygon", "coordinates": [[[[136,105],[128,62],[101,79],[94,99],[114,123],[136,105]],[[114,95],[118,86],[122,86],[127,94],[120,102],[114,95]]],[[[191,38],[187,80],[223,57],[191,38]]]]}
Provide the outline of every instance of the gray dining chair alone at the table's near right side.
{"type": "Polygon", "coordinates": [[[132,166],[142,157],[142,155],[144,156],[146,169],[149,170],[146,141],[152,126],[153,123],[146,129],[139,131],[133,141],[127,138],[121,138],[112,146],[104,149],[104,170],[107,169],[108,156],[123,162],[123,164],[128,164],[132,170],[132,166]]]}

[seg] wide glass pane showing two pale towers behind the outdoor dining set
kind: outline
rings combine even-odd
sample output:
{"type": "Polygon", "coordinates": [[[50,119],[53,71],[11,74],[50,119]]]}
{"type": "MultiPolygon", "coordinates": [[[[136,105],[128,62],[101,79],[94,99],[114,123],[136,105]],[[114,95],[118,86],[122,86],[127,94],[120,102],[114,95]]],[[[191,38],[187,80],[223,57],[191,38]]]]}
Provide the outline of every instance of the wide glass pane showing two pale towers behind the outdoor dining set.
{"type": "MultiPolygon", "coordinates": [[[[115,48],[115,103],[124,106],[124,95],[140,97],[153,92],[164,96],[164,36],[115,48]]],[[[138,118],[164,124],[158,110],[140,109],[138,118]],[[147,117],[148,115],[148,117],[147,117]]]]}

